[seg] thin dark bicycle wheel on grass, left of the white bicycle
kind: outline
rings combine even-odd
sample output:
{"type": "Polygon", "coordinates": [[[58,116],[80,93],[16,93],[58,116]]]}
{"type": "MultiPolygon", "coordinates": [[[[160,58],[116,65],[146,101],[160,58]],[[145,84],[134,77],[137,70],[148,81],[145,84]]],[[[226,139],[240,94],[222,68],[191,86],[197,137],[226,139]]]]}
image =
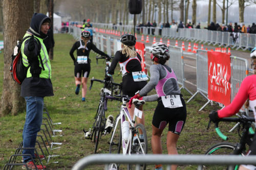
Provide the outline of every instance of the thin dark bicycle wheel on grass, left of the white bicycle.
{"type": "Polygon", "coordinates": [[[95,147],[94,147],[94,153],[96,154],[97,148],[98,148],[98,143],[102,134],[102,131],[104,129],[104,120],[103,119],[104,115],[104,108],[101,107],[99,111],[99,115],[97,117],[97,123],[95,126],[95,133],[94,133],[94,141],[95,141],[95,147]]]}

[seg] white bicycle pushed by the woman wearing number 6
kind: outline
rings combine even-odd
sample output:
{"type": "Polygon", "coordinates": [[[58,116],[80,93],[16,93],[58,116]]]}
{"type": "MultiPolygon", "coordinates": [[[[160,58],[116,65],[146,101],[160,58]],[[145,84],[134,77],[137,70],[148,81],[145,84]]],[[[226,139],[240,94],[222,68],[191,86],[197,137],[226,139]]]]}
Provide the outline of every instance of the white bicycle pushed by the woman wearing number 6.
{"type": "MultiPolygon", "coordinates": [[[[142,124],[138,124],[135,126],[135,117],[138,116],[141,118],[140,111],[138,111],[139,106],[143,105],[145,101],[133,100],[133,104],[135,105],[135,111],[133,118],[130,116],[130,113],[126,107],[126,103],[129,102],[129,98],[127,95],[115,95],[116,98],[114,100],[122,102],[120,108],[120,114],[116,116],[114,127],[112,131],[111,138],[109,140],[110,144],[110,153],[120,154],[121,144],[123,155],[131,155],[131,154],[147,154],[147,136],[145,127],[142,124]],[[137,109],[137,110],[136,110],[137,109]],[[129,136],[127,139],[124,139],[124,122],[128,120],[130,123],[129,128],[129,136]],[[142,132],[143,138],[139,138],[139,131],[142,132]],[[134,136],[137,136],[137,140],[134,141],[134,136]]],[[[141,112],[142,114],[142,112],[141,112]]],[[[135,165],[127,164],[127,169],[135,169],[133,167],[135,165]]],[[[143,164],[143,169],[146,169],[146,164],[143,164]]],[[[117,165],[119,168],[119,165],[117,165]]],[[[118,169],[117,168],[117,169],[118,169]]]]}

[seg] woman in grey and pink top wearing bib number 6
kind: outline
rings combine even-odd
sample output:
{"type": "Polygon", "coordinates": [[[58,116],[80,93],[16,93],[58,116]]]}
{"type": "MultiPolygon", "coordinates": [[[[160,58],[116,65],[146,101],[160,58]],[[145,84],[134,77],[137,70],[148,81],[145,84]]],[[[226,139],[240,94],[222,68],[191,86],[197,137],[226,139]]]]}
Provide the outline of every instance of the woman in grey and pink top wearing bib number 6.
{"type": "MultiPolygon", "coordinates": [[[[153,154],[162,154],[161,135],[168,125],[166,139],[168,154],[178,154],[176,144],[186,121],[186,104],[179,90],[177,77],[172,68],[165,65],[169,59],[168,47],[164,43],[154,43],[151,47],[150,81],[130,100],[158,101],[152,120],[152,150],[153,154]],[[145,96],[156,88],[157,94],[145,96]],[[143,96],[143,97],[142,97],[143,96]]],[[[176,169],[177,165],[172,165],[176,169]]],[[[156,169],[162,169],[161,164],[156,169]]]]}

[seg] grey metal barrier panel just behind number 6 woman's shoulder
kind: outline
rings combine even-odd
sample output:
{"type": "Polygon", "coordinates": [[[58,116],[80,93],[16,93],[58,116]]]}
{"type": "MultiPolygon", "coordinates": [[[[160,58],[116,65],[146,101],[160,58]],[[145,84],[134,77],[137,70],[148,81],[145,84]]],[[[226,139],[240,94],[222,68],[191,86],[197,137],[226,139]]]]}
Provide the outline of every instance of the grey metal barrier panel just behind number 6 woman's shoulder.
{"type": "Polygon", "coordinates": [[[185,87],[185,76],[184,76],[184,60],[183,60],[183,51],[180,47],[175,46],[169,46],[169,53],[170,53],[170,59],[169,59],[169,66],[175,70],[176,77],[178,79],[178,84],[181,85],[180,89],[184,88],[187,92],[191,93],[186,87],[185,87]]]}

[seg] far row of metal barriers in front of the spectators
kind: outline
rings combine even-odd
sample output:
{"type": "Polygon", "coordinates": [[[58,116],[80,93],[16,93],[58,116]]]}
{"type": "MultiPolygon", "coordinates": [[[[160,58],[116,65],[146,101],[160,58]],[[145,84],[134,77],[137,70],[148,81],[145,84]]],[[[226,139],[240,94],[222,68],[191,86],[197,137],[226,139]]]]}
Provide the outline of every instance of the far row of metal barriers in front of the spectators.
{"type": "MultiPolygon", "coordinates": [[[[132,25],[122,25],[114,26],[113,24],[106,23],[93,23],[94,27],[103,28],[103,29],[115,29],[118,31],[132,32],[132,25]]],[[[256,35],[255,34],[244,34],[244,33],[230,33],[230,32],[221,32],[221,31],[209,31],[206,29],[172,29],[172,28],[160,28],[160,27],[136,27],[136,30],[143,30],[144,35],[152,35],[152,29],[155,29],[155,35],[160,35],[162,37],[177,38],[183,40],[194,40],[200,41],[204,44],[215,44],[219,46],[232,46],[236,47],[238,50],[242,48],[247,50],[248,48],[253,48],[256,46],[256,35]],[[150,30],[150,32],[148,32],[150,30]],[[238,35],[237,35],[238,34],[238,35]],[[202,36],[204,35],[204,36],[202,36]],[[233,37],[237,36],[237,39],[233,37]]]]}

